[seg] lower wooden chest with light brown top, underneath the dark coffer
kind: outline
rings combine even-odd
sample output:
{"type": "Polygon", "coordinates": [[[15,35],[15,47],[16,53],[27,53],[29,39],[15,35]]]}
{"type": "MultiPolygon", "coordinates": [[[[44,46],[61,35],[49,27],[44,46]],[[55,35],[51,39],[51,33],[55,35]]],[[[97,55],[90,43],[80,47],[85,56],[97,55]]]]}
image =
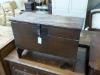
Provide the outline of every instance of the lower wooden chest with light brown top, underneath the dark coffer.
{"type": "MultiPolygon", "coordinates": [[[[79,49],[80,52],[82,50],[84,51],[83,48],[79,49]]],[[[81,56],[83,57],[82,60],[78,58],[79,61],[81,61],[81,65],[79,65],[80,62],[77,62],[79,64],[77,64],[75,72],[43,64],[41,62],[19,59],[16,50],[11,52],[5,58],[5,61],[9,64],[12,75],[84,75],[84,55],[83,53],[83,56],[81,56]]]]}

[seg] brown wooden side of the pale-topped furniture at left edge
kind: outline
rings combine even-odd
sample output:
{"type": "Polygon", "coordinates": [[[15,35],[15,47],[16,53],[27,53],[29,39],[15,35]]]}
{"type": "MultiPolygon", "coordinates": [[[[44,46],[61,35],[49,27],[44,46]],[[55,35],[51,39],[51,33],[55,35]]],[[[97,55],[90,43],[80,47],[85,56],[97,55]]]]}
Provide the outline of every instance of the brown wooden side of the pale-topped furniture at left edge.
{"type": "Polygon", "coordinates": [[[15,48],[14,40],[10,40],[0,49],[0,75],[10,75],[9,66],[4,58],[15,48]]]}

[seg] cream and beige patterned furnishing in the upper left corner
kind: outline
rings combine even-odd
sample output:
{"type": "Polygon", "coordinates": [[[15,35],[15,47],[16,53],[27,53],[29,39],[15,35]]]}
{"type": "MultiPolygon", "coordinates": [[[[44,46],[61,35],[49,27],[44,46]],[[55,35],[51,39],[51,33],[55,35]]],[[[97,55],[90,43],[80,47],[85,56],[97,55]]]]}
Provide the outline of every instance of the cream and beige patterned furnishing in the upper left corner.
{"type": "Polygon", "coordinates": [[[9,18],[15,15],[19,15],[20,10],[17,8],[15,1],[7,1],[1,4],[0,8],[0,25],[11,25],[9,18]]]}

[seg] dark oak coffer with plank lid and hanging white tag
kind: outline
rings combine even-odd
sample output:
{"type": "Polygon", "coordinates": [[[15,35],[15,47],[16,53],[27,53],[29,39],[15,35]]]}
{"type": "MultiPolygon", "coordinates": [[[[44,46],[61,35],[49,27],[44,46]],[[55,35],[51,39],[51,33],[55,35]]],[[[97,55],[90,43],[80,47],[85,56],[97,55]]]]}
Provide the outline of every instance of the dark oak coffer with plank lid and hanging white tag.
{"type": "Polygon", "coordinates": [[[10,19],[19,57],[24,49],[76,62],[83,18],[25,12],[10,19]]]}

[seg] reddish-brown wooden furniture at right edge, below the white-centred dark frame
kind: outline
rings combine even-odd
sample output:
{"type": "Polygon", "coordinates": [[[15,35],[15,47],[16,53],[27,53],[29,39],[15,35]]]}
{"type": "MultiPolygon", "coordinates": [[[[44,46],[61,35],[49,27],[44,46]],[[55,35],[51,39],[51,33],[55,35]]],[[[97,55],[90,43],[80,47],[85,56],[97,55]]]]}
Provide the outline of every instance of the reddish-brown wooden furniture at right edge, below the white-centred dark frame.
{"type": "Polygon", "coordinates": [[[100,32],[92,36],[89,65],[90,75],[100,75],[100,32]]]}

